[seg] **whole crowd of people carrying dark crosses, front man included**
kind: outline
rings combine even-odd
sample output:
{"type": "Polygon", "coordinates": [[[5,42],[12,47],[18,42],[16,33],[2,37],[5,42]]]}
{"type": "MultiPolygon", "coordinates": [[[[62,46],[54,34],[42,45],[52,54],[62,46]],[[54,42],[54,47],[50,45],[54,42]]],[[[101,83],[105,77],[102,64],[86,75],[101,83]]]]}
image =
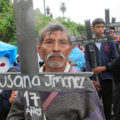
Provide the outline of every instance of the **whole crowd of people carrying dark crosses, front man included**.
{"type": "MultiPolygon", "coordinates": [[[[46,120],[120,119],[119,37],[114,31],[115,28],[110,28],[110,36],[116,41],[93,43],[97,62],[97,67],[93,68],[89,43],[85,46],[73,45],[68,31],[60,23],[50,23],[42,29],[37,45],[40,72],[94,73],[89,78],[92,92],[58,92],[43,112],[46,120]],[[96,75],[100,82],[96,80],[96,75]]],[[[105,36],[105,22],[102,18],[92,22],[92,32],[94,38],[105,36]]],[[[8,53],[2,57],[9,58],[8,53]]],[[[4,72],[20,71],[19,64],[4,72]]],[[[51,94],[53,92],[41,92],[42,101],[45,102],[51,94]]],[[[25,106],[23,92],[2,90],[0,93],[1,120],[27,120],[25,106]]]]}

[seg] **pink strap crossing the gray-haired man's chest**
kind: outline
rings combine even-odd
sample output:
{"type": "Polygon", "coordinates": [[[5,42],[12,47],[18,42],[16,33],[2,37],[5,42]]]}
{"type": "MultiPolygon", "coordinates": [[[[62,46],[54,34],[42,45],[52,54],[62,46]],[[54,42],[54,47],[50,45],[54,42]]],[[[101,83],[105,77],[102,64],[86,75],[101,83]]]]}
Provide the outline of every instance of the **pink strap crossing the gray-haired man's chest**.
{"type": "Polygon", "coordinates": [[[43,111],[45,111],[49,105],[52,103],[52,101],[55,99],[55,97],[59,94],[59,92],[51,92],[50,95],[47,97],[47,99],[43,103],[43,111]]]}

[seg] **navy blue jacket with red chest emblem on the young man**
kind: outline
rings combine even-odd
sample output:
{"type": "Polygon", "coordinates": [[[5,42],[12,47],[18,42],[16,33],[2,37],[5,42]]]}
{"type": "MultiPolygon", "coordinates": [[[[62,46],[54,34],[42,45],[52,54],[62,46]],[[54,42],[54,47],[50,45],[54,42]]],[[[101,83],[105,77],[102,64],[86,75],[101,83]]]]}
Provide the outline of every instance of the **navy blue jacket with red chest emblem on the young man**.
{"type": "MultiPolygon", "coordinates": [[[[95,45],[95,44],[94,44],[95,45]]],[[[106,66],[107,70],[100,73],[99,76],[102,80],[113,79],[112,73],[110,71],[111,63],[113,59],[118,57],[118,51],[113,42],[103,42],[101,43],[100,50],[95,45],[96,61],[98,66],[106,66]]],[[[86,70],[91,71],[91,59],[88,44],[85,45],[85,61],[86,70]]],[[[94,77],[91,78],[92,80],[94,77]]]]}

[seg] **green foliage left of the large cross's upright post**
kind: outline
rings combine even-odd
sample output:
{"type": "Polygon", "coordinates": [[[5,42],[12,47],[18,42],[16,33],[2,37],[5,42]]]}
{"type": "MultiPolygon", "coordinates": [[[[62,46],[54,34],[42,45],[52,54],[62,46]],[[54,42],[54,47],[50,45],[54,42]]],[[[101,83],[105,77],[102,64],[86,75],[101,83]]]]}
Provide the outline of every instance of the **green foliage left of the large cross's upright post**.
{"type": "Polygon", "coordinates": [[[16,39],[14,9],[8,0],[0,0],[0,38],[4,42],[16,39]]]}

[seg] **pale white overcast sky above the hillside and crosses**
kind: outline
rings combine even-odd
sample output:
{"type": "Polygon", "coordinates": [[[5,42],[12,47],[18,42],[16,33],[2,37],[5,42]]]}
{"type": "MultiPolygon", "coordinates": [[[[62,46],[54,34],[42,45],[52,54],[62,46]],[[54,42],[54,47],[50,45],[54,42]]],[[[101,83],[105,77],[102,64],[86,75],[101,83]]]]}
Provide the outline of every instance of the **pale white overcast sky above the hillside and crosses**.
{"type": "MultiPolygon", "coordinates": [[[[105,9],[109,9],[110,17],[116,17],[116,21],[120,21],[120,0],[45,0],[46,7],[50,7],[53,18],[62,17],[60,4],[66,5],[65,17],[70,18],[80,24],[84,24],[84,20],[95,18],[105,18],[105,9]]],[[[44,13],[43,0],[33,0],[34,9],[39,8],[44,13]]]]}

